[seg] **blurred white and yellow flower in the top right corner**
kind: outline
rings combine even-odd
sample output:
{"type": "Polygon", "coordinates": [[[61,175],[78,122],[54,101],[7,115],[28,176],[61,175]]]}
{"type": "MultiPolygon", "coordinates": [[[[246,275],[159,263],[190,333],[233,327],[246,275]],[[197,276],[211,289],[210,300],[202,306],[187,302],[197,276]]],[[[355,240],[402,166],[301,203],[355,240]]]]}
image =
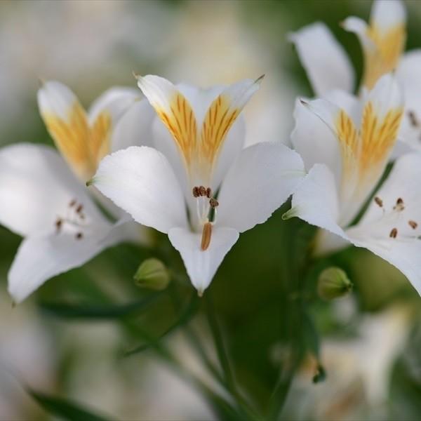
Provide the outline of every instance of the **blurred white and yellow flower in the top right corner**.
{"type": "MultiPolygon", "coordinates": [[[[406,10],[401,1],[375,1],[370,24],[359,18],[347,18],[342,26],[355,32],[363,47],[362,86],[373,88],[388,72],[396,71],[403,89],[405,112],[399,140],[421,150],[421,50],[403,53],[406,41],[406,10]]],[[[290,35],[307,72],[314,93],[321,97],[330,91],[354,90],[354,69],[338,41],[321,22],[290,35]],[[322,55],[321,55],[322,54],[322,55]]],[[[405,149],[402,149],[405,150],[405,149]]]]}

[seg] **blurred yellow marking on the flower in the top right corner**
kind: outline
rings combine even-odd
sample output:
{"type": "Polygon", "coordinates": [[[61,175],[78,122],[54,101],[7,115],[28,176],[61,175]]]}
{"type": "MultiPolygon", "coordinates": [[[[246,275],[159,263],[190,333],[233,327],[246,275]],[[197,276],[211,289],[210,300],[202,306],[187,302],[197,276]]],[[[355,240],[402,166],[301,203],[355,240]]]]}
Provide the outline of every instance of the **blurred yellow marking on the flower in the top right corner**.
{"type": "Polygon", "coordinates": [[[368,27],[367,36],[375,48],[364,51],[364,86],[371,89],[383,74],[392,72],[399,63],[406,42],[404,25],[396,25],[382,32],[375,25],[368,27]]]}

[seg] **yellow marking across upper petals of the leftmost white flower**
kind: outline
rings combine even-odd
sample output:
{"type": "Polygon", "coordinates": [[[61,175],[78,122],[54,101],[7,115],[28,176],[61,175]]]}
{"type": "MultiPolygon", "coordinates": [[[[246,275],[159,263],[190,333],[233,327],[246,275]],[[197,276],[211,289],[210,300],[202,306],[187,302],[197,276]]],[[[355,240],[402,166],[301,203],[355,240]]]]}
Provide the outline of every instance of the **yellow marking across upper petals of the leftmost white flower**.
{"type": "Polygon", "coordinates": [[[89,180],[109,152],[111,116],[102,112],[90,127],[79,102],[69,108],[67,119],[44,113],[44,122],[55,145],[81,180],[89,180]]]}

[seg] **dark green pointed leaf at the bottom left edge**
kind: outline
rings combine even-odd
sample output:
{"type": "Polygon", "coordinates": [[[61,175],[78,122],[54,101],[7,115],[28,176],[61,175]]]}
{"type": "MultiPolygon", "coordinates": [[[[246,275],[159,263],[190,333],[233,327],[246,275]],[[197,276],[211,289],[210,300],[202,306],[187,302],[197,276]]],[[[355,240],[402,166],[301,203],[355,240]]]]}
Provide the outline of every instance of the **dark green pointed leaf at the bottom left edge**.
{"type": "Polygon", "coordinates": [[[115,420],[115,417],[103,417],[90,410],[82,408],[72,401],[67,399],[50,396],[47,394],[36,392],[32,389],[27,389],[27,392],[34,398],[39,405],[44,408],[51,415],[60,417],[66,421],[105,421],[115,420]]]}

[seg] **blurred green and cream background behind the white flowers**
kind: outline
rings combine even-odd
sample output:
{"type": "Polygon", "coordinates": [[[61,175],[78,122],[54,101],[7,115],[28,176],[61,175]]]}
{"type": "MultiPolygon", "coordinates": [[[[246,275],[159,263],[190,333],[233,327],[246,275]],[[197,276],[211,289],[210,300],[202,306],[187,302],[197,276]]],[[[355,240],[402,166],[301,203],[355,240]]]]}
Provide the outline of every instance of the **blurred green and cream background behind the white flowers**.
{"type": "MultiPolygon", "coordinates": [[[[420,48],[421,2],[406,5],[408,48],[420,48]]],[[[312,95],[288,32],[326,22],[360,75],[359,44],[338,23],[348,15],[368,18],[370,6],[351,0],[3,0],[0,145],[53,145],[36,107],[39,78],[66,83],[87,106],[109,86],[135,86],[133,70],[200,86],[266,74],[246,107],[247,143],[288,144],[295,97],[312,95]]],[[[298,267],[314,229],[282,221],[281,214],[241,235],[209,291],[243,392],[265,408],[280,371],[298,353],[301,363],[281,419],[420,419],[420,298],[390,265],[355,248],[312,262],[303,281],[298,267]],[[354,282],[347,298],[326,303],[316,297],[316,274],[328,265],[340,265],[354,282]],[[303,319],[310,328],[301,328],[303,319]],[[317,340],[327,377],[314,384],[316,363],[309,352],[314,347],[308,342],[317,340]]],[[[165,238],[155,241],[156,248],[107,250],[12,308],[6,274],[20,238],[0,227],[1,420],[51,419],[29,396],[29,387],[113,419],[218,418],[153,349],[124,356],[142,343],[139,331],[157,337],[178,319],[180,307],[167,297],[124,317],[72,314],[60,307],[103,309],[143,298],[147,293],[135,288],[133,274],[152,255],[180,274],[171,288],[188,302],[192,288],[180,258],[165,238]]],[[[199,302],[189,324],[213,354],[202,307],[199,302]]],[[[210,382],[182,326],[163,342],[188,370],[210,382]]]]}

